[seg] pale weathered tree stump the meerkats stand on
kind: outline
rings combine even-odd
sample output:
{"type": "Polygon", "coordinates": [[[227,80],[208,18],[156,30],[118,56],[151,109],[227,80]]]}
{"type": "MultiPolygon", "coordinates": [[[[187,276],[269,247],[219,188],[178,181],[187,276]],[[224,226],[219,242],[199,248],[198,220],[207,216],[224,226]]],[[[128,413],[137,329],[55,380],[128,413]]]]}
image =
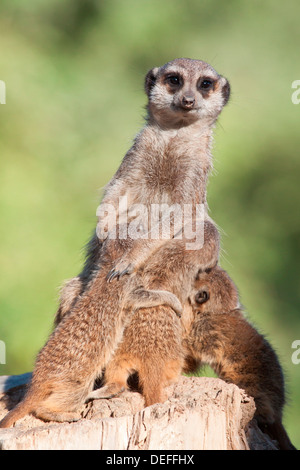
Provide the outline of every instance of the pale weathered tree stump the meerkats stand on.
{"type": "MultiPolygon", "coordinates": [[[[30,375],[0,378],[0,418],[24,394],[30,375]]],[[[44,423],[26,416],[0,429],[2,450],[276,450],[252,420],[252,398],[220,379],[181,377],[169,400],[144,408],[126,392],[85,405],[75,423],[44,423]]]]}

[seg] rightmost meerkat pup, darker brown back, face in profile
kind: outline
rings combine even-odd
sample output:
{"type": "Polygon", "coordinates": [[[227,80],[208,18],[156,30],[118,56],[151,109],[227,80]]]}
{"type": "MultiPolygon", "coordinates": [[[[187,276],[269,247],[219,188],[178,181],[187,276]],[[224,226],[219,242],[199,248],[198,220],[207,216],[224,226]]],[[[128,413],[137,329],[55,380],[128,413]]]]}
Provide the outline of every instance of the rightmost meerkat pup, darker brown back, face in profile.
{"type": "Polygon", "coordinates": [[[199,273],[190,304],[193,321],[183,341],[184,371],[209,364],[221,379],[243,388],[255,400],[261,429],[280,449],[294,450],[282,425],[285,390],[277,355],[245,319],[228,274],[218,266],[199,273]]]}

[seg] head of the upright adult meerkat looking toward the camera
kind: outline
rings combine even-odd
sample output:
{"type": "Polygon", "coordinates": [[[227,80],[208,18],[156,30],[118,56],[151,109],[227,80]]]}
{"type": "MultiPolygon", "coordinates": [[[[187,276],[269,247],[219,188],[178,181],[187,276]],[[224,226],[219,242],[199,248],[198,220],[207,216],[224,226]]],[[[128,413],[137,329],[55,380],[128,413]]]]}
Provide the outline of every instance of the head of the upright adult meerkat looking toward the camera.
{"type": "Polygon", "coordinates": [[[230,85],[206,62],[175,59],[147,73],[145,91],[149,117],[163,127],[178,127],[200,119],[214,123],[230,85]]]}

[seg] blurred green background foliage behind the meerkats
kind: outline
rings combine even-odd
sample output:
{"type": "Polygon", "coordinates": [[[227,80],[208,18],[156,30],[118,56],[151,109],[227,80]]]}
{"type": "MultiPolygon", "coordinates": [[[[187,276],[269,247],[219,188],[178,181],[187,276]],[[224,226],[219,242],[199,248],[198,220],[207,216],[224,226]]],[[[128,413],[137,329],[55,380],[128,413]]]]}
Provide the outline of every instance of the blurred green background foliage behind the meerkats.
{"type": "Polygon", "coordinates": [[[278,352],[300,447],[299,15],[297,0],[1,1],[1,375],[32,370],[81,269],[101,188],[143,124],[145,73],[203,59],[232,86],[208,187],[221,264],[278,352]]]}

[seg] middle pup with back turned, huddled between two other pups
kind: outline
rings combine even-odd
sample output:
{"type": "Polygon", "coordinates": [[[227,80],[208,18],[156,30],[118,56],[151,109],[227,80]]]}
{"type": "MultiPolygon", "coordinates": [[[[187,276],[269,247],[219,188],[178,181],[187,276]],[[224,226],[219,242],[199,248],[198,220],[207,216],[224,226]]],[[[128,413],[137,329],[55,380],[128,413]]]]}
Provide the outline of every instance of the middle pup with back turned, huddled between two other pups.
{"type": "MultiPolygon", "coordinates": [[[[186,250],[184,241],[173,240],[149,258],[138,274],[149,289],[172,290],[184,304],[198,275],[199,262],[201,266],[215,266],[218,251],[218,231],[206,222],[203,249],[186,250]]],[[[128,389],[129,376],[138,372],[145,405],[163,402],[165,387],[177,380],[183,367],[182,336],[183,324],[170,308],[136,309],[105,368],[105,386],[90,393],[88,399],[111,398],[121,393],[128,389]]]]}

